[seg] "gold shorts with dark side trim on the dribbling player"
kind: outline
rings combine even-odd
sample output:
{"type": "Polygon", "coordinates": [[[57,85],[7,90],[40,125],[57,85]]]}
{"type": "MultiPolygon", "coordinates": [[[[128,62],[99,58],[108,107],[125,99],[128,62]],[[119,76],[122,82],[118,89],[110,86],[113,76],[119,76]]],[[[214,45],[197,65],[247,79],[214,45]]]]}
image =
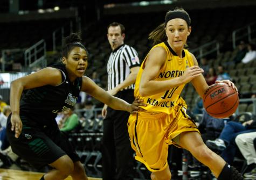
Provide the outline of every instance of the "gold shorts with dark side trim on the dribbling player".
{"type": "Polygon", "coordinates": [[[196,131],[195,122],[186,114],[184,107],[174,114],[131,114],[128,120],[128,132],[135,159],[145,164],[151,171],[164,170],[167,163],[168,145],[178,145],[178,135],[196,131]]]}

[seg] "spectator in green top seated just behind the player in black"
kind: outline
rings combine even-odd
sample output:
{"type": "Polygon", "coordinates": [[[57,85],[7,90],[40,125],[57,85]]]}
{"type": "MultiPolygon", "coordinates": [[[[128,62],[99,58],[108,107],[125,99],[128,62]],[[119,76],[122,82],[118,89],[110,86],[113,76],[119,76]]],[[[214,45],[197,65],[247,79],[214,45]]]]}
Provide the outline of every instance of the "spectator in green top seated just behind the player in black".
{"type": "Polygon", "coordinates": [[[77,114],[73,112],[73,109],[69,109],[63,112],[64,117],[59,121],[60,131],[72,131],[79,126],[79,119],[77,114]]]}

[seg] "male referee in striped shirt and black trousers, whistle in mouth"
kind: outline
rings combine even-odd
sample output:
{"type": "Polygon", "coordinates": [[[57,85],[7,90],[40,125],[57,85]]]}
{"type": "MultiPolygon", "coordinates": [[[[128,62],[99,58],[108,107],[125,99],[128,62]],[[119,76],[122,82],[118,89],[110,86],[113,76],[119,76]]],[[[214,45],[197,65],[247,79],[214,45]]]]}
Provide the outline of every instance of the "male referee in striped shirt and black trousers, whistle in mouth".
{"type": "MultiPolygon", "coordinates": [[[[124,44],[124,26],[111,23],[107,37],[112,48],[107,63],[108,92],[115,97],[134,101],[134,83],[140,69],[135,49],[124,44]]],[[[103,180],[133,179],[133,151],[130,147],[127,121],[129,113],[107,107],[102,109],[102,177],[103,180]]]]}

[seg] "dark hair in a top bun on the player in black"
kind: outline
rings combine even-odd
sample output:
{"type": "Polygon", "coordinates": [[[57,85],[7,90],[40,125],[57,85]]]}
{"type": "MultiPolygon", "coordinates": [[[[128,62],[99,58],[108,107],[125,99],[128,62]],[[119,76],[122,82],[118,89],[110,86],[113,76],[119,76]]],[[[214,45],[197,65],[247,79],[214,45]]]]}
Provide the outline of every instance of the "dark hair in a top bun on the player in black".
{"type": "Polygon", "coordinates": [[[68,57],[68,53],[72,51],[74,47],[81,47],[85,49],[87,55],[88,51],[84,45],[81,44],[81,38],[78,33],[71,33],[68,37],[63,39],[62,57],[68,57]]]}

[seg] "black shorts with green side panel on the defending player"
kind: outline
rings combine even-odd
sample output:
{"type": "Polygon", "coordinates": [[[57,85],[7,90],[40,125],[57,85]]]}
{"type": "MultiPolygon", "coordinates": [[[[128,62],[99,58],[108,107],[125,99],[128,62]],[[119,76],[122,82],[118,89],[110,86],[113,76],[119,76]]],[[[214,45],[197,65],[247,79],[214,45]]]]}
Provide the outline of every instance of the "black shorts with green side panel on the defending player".
{"type": "Polygon", "coordinates": [[[40,169],[46,164],[68,155],[73,162],[80,161],[74,147],[68,141],[66,134],[60,132],[54,119],[47,127],[38,125],[31,114],[20,112],[23,123],[19,138],[15,138],[15,131],[11,131],[11,114],[6,124],[6,135],[13,153],[40,169]]]}

